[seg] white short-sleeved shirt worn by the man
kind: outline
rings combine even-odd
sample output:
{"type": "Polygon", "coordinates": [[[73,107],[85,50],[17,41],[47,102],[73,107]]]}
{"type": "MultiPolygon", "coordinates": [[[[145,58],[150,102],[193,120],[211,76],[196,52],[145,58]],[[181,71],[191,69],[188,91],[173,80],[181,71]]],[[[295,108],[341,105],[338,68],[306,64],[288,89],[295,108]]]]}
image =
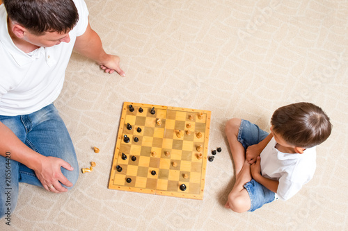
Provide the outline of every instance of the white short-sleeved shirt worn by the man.
{"type": "Polygon", "coordinates": [[[0,115],[30,114],[52,103],[61,93],[76,37],[83,35],[88,26],[86,3],[74,3],[79,22],[69,33],[70,42],[40,47],[29,54],[13,43],[6,9],[0,6],[0,115]]]}

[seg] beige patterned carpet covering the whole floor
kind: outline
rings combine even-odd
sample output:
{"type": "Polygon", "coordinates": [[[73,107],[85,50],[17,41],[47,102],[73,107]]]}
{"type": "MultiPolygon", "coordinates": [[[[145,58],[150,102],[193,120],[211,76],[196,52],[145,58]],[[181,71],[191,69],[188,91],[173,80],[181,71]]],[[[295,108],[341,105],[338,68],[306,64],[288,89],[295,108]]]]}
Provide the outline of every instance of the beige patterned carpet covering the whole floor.
{"type": "Polygon", "coordinates": [[[65,194],[20,185],[11,227],[0,230],[347,230],[348,2],[86,0],[104,49],[126,78],[74,53],[56,106],[81,174],[65,194]],[[204,200],[107,189],[124,101],[212,111],[204,200]],[[281,105],[310,101],[331,117],[317,171],[290,200],[237,214],[224,126],[243,117],[269,130],[281,105]],[[91,147],[100,148],[95,154],[91,147]]]}

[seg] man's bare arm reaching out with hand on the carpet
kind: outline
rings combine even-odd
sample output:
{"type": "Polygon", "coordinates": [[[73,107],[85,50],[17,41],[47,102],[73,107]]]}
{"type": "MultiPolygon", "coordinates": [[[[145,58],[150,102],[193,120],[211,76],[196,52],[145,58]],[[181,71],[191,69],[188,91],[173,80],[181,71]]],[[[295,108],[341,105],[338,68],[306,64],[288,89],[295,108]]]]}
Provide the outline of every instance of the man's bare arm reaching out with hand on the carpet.
{"type": "Polygon", "coordinates": [[[125,76],[125,71],[120,69],[120,58],[117,55],[109,55],[104,51],[102,40],[90,28],[89,23],[85,33],[76,38],[74,49],[87,58],[95,60],[106,73],[111,74],[116,71],[120,76],[125,76]]]}

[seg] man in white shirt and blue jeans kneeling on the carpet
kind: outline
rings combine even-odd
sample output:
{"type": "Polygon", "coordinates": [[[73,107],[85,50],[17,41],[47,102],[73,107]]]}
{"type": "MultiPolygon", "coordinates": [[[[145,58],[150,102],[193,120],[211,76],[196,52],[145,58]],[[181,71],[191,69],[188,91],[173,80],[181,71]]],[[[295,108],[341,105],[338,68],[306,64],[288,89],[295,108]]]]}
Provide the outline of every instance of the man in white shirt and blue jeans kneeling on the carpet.
{"type": "Polygon", "coordinates": [[[2,1],[0,217],[15,209],[19,182],[61,193],[77,181],[74,146],[53,105],[72,49],[125,76],[90,28],[84,0],[2,1]]]}

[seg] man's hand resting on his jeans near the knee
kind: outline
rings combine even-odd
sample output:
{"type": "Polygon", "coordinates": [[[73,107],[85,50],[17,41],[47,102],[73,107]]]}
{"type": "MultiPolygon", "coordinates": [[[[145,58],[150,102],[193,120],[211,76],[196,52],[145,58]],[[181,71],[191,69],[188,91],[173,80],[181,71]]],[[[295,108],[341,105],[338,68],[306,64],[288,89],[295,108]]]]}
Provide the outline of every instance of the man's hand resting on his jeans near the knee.
{"type": "Polygon", "coordinates": [[[36,176],[47,191],[55,193],[68,191],[61,183],[67,187],[72,187],[72,182],[65,178],[61,167],[69,171],[74,170],[68,162],[60,158],[45,156],[42,157],[41,165],[38,169],[34,169],[36,176]]]}

